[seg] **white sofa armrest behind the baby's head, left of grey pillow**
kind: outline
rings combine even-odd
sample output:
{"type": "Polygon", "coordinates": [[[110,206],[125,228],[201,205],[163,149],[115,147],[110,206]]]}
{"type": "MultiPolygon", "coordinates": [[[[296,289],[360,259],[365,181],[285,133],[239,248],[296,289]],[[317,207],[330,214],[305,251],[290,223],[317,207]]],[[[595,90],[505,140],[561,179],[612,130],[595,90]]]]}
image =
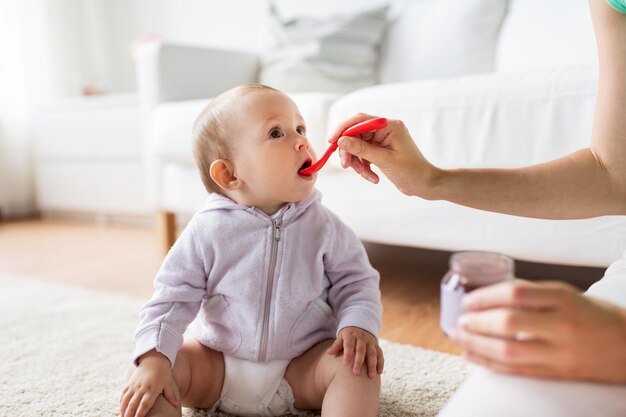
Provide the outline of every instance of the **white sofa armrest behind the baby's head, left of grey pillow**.
{"type": "Polygon", "coordinates": [[[258,56],[250,52],[190,47],[161,42],[138,47],[140,106],[215,97],[238,84],[256,82],[258,56]]]}

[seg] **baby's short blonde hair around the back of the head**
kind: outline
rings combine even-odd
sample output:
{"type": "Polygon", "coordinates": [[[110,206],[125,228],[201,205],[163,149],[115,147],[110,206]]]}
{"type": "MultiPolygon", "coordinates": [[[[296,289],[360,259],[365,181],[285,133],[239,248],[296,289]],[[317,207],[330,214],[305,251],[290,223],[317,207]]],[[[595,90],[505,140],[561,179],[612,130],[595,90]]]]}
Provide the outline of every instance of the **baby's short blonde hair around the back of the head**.
{"type": "Polygon", "coordinates": [[[211,178],[211,164],[217,159],[230,159],[232,156],[230,135],[226,127],[227,115],[236,108],[239,98],[259,91],[279,90],[262,84],[242,84],[231,88],[211,100],[193,124],[193,156],[200,171],[200,178],[209,193],[222,192],[220,186],[211,178]]]}

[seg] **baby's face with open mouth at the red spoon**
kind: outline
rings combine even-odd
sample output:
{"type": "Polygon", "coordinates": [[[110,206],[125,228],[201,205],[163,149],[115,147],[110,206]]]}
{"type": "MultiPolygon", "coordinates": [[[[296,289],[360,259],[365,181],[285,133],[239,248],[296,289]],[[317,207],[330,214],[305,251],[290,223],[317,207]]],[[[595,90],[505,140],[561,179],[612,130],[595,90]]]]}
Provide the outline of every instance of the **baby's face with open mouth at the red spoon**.
{"type": "Polygon", "coordinates": [[[300,175],[298,170],[316,157],[296,104],[271,90],[249,92],[237,103],[227,129],[232,134],[235,175],[243,181],[241,203],[273,214],[284,204],[307,197],[317,175],[300,175]]]}

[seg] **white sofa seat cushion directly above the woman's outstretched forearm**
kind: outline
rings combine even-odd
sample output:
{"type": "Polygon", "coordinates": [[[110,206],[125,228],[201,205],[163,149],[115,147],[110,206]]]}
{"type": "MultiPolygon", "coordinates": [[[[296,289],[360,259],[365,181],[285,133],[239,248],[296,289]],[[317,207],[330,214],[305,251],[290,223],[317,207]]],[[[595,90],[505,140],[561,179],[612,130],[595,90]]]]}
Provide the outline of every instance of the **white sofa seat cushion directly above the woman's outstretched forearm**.
{"type": "Polygon", "coordinates": [[[400,119],[436,165],[522,166],[589,145],[596,90],[593,66],[389,84],[343,96],[328,122],[357,112],[400,119]]]}

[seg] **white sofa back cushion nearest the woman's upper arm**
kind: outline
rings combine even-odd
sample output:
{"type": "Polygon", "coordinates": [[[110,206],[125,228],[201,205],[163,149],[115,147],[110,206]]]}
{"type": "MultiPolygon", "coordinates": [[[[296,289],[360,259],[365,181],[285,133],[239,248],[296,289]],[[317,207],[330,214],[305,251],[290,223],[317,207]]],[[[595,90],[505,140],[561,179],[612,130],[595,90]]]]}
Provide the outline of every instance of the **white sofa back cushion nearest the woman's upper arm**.
{"type": "Polygon", "coordinates": [[[596,50],[588,0],[511,0],[496,70],[594,64],[596,50]]]}

